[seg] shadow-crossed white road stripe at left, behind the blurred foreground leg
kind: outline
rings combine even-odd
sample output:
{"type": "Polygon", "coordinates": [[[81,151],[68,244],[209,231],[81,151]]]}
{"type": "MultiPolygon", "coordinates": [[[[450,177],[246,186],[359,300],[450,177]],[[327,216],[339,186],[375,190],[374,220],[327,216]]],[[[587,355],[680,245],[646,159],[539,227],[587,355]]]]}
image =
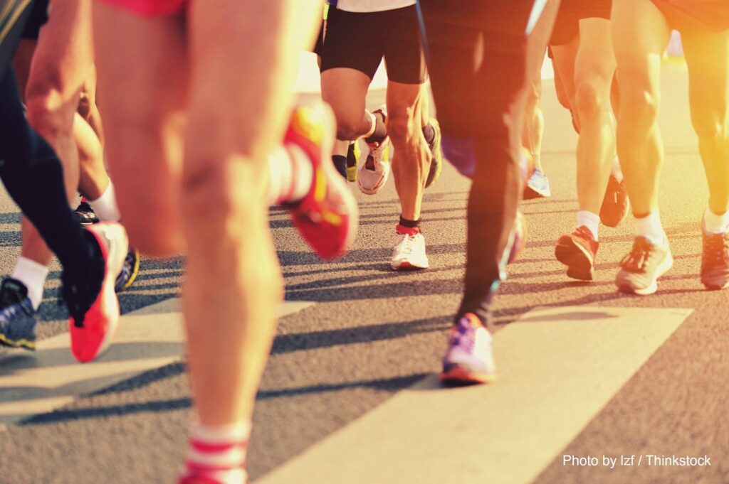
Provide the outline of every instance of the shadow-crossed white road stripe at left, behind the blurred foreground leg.
{"type": "MultiPolygon", "coordinates": [[[[313,302],[285,301],[280,317],[313,302]]],[[[93,363],[80,365],[71,356],[69,334],[39,341],[35,353],[17,350],[0,356],[0,424],[50,412],[82,394],[181,360],[184,332],[179,299],[168,299],[120,321],[114,344],[93,363]]]]}

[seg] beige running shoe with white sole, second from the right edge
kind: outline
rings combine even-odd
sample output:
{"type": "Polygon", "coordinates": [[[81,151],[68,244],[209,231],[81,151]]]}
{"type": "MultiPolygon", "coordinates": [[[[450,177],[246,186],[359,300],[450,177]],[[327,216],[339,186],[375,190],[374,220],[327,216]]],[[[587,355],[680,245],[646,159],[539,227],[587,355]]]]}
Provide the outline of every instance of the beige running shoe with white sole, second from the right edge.
{"type": "Polygon", "coordinates": [[[649,295],[658,290],[658,277],[674,265],[668,242],[652,244],[645,237],[636,237],[631,253],[620,262],[615,285],[622,293],[649,295]]]}

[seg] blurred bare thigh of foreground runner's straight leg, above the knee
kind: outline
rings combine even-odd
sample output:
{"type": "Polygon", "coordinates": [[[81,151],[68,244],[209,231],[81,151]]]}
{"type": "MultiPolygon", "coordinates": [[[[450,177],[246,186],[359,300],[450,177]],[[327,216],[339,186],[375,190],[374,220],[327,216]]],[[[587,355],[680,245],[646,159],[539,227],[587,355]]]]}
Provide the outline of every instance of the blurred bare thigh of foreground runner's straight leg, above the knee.
{"type": "Polygon", "coordinates": [[[205,0],[192,1],[187,12],[184,170],[194,174],[219,162],[211,149],[262,165],[289,122],[300,51],[313,44],[321,2],[205,0]]]}

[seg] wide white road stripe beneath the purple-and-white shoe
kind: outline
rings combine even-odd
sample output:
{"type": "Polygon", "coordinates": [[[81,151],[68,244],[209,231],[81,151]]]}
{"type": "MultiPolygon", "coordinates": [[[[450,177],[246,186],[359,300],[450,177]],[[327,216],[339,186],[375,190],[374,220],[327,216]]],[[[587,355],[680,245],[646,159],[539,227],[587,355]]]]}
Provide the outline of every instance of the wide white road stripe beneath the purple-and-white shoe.
{"type": "Polygon", "coordinates": [[[426,378],[257,484],[530,483],[692,311],[534,309],[494,336],[496,383],[426,378]]]}

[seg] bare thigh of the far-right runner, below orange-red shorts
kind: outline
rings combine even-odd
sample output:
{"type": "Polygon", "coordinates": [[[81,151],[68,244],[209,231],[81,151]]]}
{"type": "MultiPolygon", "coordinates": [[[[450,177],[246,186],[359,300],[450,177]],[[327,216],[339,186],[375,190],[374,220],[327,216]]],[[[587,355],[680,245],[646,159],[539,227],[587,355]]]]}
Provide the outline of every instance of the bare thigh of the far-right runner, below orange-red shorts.
{"type": "Polygon", "coordinates": [[[691,118],[695,129],[724,132],[729,96],[727,32],[684,31],[691,118]]]}

